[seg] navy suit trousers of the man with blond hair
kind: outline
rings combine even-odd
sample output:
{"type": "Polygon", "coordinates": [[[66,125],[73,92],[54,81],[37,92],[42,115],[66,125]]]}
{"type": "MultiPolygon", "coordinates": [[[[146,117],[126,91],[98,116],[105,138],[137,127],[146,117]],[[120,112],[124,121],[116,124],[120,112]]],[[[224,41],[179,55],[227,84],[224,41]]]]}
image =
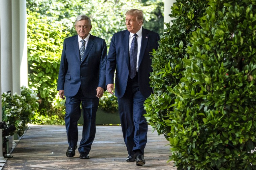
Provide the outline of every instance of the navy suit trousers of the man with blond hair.
{"type": "Polygon", "coordinates": [[[118,98],[118,108],[124,142],[129,155],[140,150],[144,154],[147,143],[148,124],[143,103],[144,97],[139,90],[138,76],[128,78],[127,88],[123,97],[118,98]]]}

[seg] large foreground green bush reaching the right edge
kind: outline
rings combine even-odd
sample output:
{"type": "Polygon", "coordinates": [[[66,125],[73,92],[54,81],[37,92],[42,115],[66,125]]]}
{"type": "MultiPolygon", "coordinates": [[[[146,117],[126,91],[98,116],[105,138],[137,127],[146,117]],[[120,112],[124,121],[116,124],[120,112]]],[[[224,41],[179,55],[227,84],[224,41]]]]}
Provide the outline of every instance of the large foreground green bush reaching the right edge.
{"type": "Polygon", "coordinates": [[[256,169],[256,2],[209,0],[174,88],[178,169],[256,169]]]}

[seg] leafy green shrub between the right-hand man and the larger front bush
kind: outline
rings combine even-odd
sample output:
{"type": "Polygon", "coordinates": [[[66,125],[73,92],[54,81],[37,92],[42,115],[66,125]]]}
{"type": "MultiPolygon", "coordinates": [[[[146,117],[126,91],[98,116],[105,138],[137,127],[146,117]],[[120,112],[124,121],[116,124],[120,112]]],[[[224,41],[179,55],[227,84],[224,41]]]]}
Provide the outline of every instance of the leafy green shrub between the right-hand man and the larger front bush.
{"type": "Polygon", "coordinates": [[[188,58],[185,49],[190,45],[192,32],[200,28],[199,19],[204,15],[205,7],[206,0],[177,0],[169,15],[174,18],[173,24],[165,24],[167,28],[159,41],[159,48],[153,51],[150,84],[154,94],[146,100],[145,117],[166,138],[171,130],[170,113],[175,98],[173,88],[183,76],[183,58],[188,58]]]}

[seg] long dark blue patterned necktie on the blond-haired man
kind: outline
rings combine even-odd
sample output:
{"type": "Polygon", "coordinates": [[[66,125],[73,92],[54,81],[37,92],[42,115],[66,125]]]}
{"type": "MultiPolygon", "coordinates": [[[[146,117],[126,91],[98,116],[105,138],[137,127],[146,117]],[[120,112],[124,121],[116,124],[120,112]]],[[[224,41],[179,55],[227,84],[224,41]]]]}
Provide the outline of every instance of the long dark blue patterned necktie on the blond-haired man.
{"type": "Polygon", "coordinates": [[[131,43],[130,49],[130,67],[129,67],[129,77],[133,79],[136,75],[136,63],[137,63],[137,52],[138,52],[138,42],[137,42],[137,34],[133,35],[133,40],[131,43]]]}

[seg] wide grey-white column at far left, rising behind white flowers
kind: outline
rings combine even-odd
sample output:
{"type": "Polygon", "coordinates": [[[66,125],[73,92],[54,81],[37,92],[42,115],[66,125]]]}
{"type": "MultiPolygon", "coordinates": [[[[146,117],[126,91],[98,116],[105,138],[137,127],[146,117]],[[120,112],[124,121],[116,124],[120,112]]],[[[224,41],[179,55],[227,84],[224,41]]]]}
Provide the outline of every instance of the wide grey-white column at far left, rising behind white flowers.
{"type": "Polygon", "coordinates": [[[12,91],[11,1],[1,0],[1,91],[12,91]]]}

